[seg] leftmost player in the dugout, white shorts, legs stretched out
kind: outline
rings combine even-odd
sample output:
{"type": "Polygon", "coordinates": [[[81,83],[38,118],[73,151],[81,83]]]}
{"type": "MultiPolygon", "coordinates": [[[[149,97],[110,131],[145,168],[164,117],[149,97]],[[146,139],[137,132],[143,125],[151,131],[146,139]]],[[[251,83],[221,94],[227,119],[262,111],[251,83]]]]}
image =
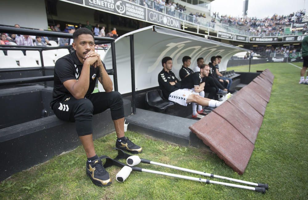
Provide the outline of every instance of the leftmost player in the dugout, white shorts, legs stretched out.
{"type": "MultiPolygon", "coordinates": [[[[213,99],[201,97],[199,92],[204,89],[204,83],[196,86],[193,89],[181,89],[181,83],[176,78],[172,70],[172,58],[164,57],[161,61],[164,69],[158,74],[159,87],[162,90],[164,98],[169,101],[176,102],[182,106],[187,106],[188,103],[197,103],[201,106],[217,107],[223,102],[219,102],[213,99]],[[195,91],[197,90],[197,91],[195,91]]],[[[203,73],[200,72],[200,74],[203,73]]],[[[202,74],[203,78],[204,75],[202,74]]]]}

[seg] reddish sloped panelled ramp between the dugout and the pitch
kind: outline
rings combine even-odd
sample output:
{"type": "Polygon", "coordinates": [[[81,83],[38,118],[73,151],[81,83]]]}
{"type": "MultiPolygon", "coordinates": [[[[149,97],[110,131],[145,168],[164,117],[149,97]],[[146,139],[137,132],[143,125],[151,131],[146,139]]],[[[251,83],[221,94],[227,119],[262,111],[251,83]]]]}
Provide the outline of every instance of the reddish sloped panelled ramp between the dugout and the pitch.
{"type": "Polygon", "coordinates": [[[243,174],[254,149],[270,100],[274,75],[264,70],[189,129],[238,174],[243,174]]]}

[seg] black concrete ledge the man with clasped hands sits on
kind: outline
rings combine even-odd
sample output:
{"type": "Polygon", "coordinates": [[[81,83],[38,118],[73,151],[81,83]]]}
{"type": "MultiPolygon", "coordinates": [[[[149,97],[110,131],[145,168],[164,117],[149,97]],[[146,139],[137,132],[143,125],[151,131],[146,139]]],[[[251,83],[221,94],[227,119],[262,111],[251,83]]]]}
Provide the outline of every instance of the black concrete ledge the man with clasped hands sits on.
{"type": "MultiPolygon", "coordinates": [[[[131,102],[123,99],[125,116],[131,114],[131,102]]],[[[93,116],[93,138],[113,132],[110,109],[93,116]]],[[[116,136],[115,136],[116,139],[116,136]]],[[[75,123],[55,115],[0,129],[0,180],[43,163],[81,143],[75,123]]]]}

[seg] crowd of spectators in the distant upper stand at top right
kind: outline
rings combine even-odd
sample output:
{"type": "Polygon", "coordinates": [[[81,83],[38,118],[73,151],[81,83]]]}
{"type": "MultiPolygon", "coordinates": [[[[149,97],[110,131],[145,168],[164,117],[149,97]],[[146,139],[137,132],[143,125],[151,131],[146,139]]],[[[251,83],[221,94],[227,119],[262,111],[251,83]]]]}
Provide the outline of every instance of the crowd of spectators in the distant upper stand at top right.
{"type": "MultiPolygon", "coordinates": [[[[305,10],[299,10],[289,15],[277,15],[263,19],[248,17],[232,17],[227,15],[219,16],[219,13],[213,13],[213,19],[219,20],[223,24],[236,25],[238,29],[249,31],[256,34],[278,34],[284,32],[284,27],[292,22],[301,22],[305,15],[305,10]]],[[[307,27],[305,27],[307,30],[307,27]]]]}

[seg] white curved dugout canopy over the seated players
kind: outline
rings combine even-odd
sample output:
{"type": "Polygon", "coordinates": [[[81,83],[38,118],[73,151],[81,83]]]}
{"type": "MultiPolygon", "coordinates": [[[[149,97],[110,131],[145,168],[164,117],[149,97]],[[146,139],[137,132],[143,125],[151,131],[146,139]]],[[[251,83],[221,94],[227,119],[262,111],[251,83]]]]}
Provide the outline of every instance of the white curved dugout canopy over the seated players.
{"type": "MultiPolygon", "coordinates": [[[[219,67],[224,71],[229,58],[234,54],[250,51],[156,25],[135,30],[115,40],[118,87],[121,94],[132,92],[130,81],[130,36],[132,35],[134,36],[136,91],[158,86],[157,75],[162,70],[161,60],[165,56],[172,58],[172,71],[177,75],[182,66],[183,56],[192,58],[191,68],[194,68],[197,66],[199,57],[203,57],[205,63],[209,63],[212,56],[221,55],[223,59],[219,67]]],[[[107,68],[112,66],[110,49],[106,52],[103,62],[107,68]]],[[[100,84],[99,91],[103,91],[100,84]]]]}

